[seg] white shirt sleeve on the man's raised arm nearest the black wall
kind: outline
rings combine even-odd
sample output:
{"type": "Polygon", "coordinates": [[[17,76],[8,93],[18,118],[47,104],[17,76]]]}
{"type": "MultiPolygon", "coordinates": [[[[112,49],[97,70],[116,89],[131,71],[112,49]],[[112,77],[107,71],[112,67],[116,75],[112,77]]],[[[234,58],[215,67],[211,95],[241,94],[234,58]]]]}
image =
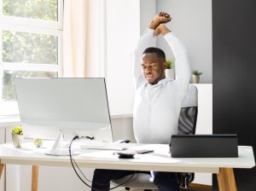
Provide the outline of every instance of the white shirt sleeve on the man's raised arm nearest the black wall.
{"type": "Polygon", "coordinates": [[[183,43],[172,32],[167,33],[164,38],[171,47],[173,55],[175,56],[175,81],[181,90],[181,96],[184,97],[187,94],[190,79],[188,51],[184,47],[183,43]]]}

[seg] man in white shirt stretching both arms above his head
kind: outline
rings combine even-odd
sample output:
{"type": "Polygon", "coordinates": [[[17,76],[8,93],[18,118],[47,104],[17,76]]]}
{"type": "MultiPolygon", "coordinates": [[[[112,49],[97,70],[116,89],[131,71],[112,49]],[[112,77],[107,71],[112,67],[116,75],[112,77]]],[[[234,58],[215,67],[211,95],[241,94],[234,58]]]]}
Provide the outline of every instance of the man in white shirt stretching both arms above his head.
{"type": "MultiPolygon", "coordinates": [[[[177,134],[178,117],[189,85],[190,67],[183,44],[164,25],[171,19],[164,12],[157,14],[139,39],[135,51],[133,128],[140,143],[168,144],[171,135],[177,134]],[[159,34],[164,36],[176,57],[175,80],[166,78],[164,51],[149,47],[150,41],[159,34]]],[[[109,190],[111,180],[134,173],[136,171],[96,170],[92,190],[109,190]]],[[[153,177],[160,190],[179,190],[176,173],[154,171],[153,177]]]]}

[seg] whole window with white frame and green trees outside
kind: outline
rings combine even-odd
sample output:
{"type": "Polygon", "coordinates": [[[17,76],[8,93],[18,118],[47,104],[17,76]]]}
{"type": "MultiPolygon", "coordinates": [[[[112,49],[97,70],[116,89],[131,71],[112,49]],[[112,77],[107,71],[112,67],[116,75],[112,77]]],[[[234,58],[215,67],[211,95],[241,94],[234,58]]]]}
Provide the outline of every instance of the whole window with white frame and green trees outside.
{"type": "Polygon", "coordinates": [[[0,114],[18,113],[13,78],[61,76],[63,1],[0,0],[0,8],[0,114]]]}

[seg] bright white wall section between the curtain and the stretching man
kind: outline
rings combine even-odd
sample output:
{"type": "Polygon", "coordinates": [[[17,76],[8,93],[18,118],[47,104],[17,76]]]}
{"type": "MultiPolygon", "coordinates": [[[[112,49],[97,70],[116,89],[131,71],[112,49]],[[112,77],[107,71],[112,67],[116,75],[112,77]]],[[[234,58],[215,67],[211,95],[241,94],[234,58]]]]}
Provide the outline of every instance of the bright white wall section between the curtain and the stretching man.
{"type": "Polygon", "coordinates": [[[132,57],[140,37],[140,1],[108,0],[107,89],[110,113],[132,113],[132,57]]]}

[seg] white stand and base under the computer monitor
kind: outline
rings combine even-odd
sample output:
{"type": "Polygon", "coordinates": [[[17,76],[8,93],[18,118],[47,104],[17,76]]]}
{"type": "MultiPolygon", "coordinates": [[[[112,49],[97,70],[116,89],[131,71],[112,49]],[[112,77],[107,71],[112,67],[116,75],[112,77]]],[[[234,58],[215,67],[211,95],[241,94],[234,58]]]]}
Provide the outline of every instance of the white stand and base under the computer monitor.
{"type": "MultiPolygon", "coordinates": [[[[61,143],[63,142],[63,130],[60,130],[59,136],[57,136],[53,147],[46,152],[47,155],[53,156],[69,156],[69,148],[61,148],[61,143]]],[[[71,151],[71,155],[79,154],[78,151],[71,151]]]]}

